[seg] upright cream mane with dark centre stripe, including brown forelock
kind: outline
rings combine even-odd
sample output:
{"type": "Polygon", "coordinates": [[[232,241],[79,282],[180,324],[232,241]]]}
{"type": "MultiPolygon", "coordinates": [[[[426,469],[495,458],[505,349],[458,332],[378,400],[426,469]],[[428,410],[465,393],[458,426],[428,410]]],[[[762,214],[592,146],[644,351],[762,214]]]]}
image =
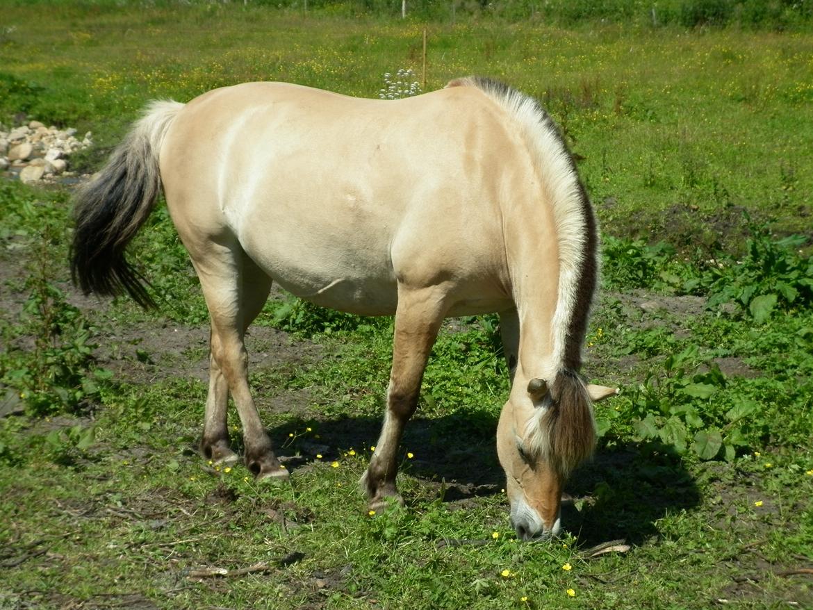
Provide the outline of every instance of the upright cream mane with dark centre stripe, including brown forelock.
{"type": "Polygon", "coordinates": [[[480,76],[451,81],[483,91],[524,131],[552,207],[559,242],[559,291],[551,325],[550,404],[538,409],[529,444],[567,473],[593,451],[595,425],[589,394],[578,372],[581,347],[598,283],[598,224],[576,163],[550,115],[528,95],[480,76]]]}

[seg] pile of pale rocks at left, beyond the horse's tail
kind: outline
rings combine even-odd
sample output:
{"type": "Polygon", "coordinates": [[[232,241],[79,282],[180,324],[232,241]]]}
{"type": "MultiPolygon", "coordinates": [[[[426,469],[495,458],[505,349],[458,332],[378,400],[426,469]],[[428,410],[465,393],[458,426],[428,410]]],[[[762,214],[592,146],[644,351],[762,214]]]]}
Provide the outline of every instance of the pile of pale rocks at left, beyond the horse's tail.
{"type": "Polygon", "coordinates": [[[46,127],[37,120],[15,127],[9,132],[0,130],[0,172],[7,169],[20,172],[20,180],[37,182],[64,174],[67,156],[87,148],[90,132],[85,138],[76,137],[76,129],[46,127]]]}

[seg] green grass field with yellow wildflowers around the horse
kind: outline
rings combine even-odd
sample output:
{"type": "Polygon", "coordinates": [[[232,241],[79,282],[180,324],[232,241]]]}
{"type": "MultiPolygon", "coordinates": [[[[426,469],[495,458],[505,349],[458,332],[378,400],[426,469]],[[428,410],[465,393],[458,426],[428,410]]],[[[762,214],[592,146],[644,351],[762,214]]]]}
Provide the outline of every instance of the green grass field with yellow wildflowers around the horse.
{"type": "Polygon", "coordinates": [[[73,163],[94,171],[150,98],[421,80],[424,28],[426,89],[479,73],[535,95],[604,233],[585,373],[624,390],[597,405],[568,534],[520,544],[508,525],[495,318],[446,325],[402,447],[406,508],[370,515],[392,322],[274,294],[251,382],[293,476],[259,485],[194,454],[207,314],[166,210],[134,248],[162,303],[145,313],[68,284],[69,186],[3,180],[0,608],[813,607],[811,33],[342,6],[11,4],[0,122],[93,131],[73,163]]]}

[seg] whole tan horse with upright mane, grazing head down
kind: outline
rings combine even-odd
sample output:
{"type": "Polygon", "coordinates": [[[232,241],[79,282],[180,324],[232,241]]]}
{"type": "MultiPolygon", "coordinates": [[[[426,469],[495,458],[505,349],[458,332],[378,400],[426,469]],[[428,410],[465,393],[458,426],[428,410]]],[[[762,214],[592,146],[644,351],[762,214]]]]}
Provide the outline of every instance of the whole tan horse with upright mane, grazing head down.
{"type": "Polygon", "coordinates": [[[403,427],[447,316],[498,312],[511,394],[498,424],[511,521],[522,539],[559,533],[563,482],[593,451],[591,401],[616,390],[579,377],[598,275],[598,229],[576,167],[539,104],[458,79],[398,101],[284,83],[153,102],[76,198],[72,275],[85,293],[150,294],[124,250],[159,191],[211,316],[200,450],[287,477],[259,419],[244,334],[272,281],[311,303],[395,314],[384,424],[363,486],[400,500],[403,427]]]}

